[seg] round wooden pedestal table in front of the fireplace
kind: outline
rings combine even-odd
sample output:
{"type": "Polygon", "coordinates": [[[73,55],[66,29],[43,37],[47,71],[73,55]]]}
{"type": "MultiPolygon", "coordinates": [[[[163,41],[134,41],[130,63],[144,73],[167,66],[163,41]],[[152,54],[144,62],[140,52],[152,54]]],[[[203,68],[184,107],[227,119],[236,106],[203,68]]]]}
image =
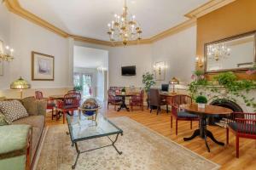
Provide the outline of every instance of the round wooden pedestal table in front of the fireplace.
{"type": "Polygon", "coordinates": [[[212,141],[216,144],[224,145],[223,142],[219,142],[217,139],[214,138],[211,131],[207,130],[207,118],[216,115],[230,115],[230,113],[233,112],[232,110],[217,105],[206,105],[205,108],[198,108],[197,104],[180,105],[180,108],[183,111],[200,117],[199,129],[196,129],[191,137],[184,138],[184,141],[192,140],[195,139],[196,136],[200,136],[202,139],[205,140],[208,152],[210,152],[210,148],[207,144],[207,137],[212,139],[212,141]]]}

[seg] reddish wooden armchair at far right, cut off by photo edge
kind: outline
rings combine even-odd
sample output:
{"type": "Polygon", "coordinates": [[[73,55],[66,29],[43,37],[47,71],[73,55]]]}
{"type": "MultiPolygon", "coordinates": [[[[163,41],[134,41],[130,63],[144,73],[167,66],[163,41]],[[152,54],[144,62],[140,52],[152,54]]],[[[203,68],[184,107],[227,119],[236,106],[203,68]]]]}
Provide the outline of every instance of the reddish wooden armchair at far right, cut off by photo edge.
{"type": "Polygon", "coordinates": [[[256,139],[256,113],[234,112],[230,115],[226,128],[227,144],[230,130],[236,135],[236,157],[239,158],[239,138],[256,139]]]}

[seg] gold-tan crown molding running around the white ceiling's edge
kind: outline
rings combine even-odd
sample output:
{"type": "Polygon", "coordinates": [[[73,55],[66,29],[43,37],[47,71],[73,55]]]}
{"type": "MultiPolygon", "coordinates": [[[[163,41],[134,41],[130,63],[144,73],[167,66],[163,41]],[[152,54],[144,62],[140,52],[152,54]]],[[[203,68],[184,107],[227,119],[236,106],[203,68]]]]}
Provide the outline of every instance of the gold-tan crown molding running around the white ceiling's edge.
{"type": "MultiPolygon", "coordinates": [[[[157,42],[160,39],[169,37],[173,34],[176,34],[179,31],[183,31],[191,26],[196,25],[196,18],[208,14],[212,12],[213,10],[216,10],[217,8],[221,8],[224,5],[228,3],[232,3],[236,0],[211,0],[208,3],[205,3],[201,5],[199,8],[195,8],[193,11],[189,12],[188,14],[185,14],[184,16],[188,17],[189,20],[184,21],[183,23],[174,26],[166,31],[160,32],[159,34],[155,35],[154,37],[150,37],[147,39],[142,39],[140,41],[130,41],[127,43],[127,45],[139,45],[139,44],[150,44],[152,42],[157,42]]],[[[37,24],[38,26],[42,26],[45,29],[54,32],[55,34],[61,36],[61,37],[72,37],[75,41],[79,42],[89,42],[89,43],[94,43],[94,44],[99,44],[99,45],[105,45],[105,46],[110,46],[110,47],[118,47],[118,46],[124,46],[122,42],[110,42],[110,41],[103,41],[103,40],[97,40],[94,38],[90,37],[81,37],[81,36],[76,36],[67,33],[66,31],[62,31],[60,28],[53,26],[46,20],[43,20],[39,18],[37,15],[30,13],[26,9],[22,8],[20,6],[20,3],[18,0],[5,0],[4,1],[6,7],[9,9],[10,12],[20,15],[22,18],[26,20],[30,20],[33,23],[37,24]]]]}

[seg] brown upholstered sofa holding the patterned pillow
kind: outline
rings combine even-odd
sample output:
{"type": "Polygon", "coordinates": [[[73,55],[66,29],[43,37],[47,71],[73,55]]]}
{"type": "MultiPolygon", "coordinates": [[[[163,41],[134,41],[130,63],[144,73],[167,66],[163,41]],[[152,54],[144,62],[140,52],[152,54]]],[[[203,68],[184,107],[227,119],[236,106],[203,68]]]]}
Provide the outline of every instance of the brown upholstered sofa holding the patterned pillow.
{"type": "MultiPolygon", "coordinates": [[[[28,112],[29,116],[16,120],[15,122],[12,122],[12,125],[30,125],[32,127],[32,139],[31,139],[30,154],[29,154],[30,164],[32,166],[32,164],[35,161],[38,145],[40,143],[40,140],[42,139],[42,135],[44,132],[47,102],[44,100],[37,100],[34,97],[21,99],[20,102],[26,108],[26,111],[28,112]]],[[[5,125],[5,126],[9,126],[9,125],[5,125]]],[[[4,153],[4,156],[6,157],[12,156],[14,155],[14,153],[12,152],[14,151],[15,150],[10,150],[9,154],[4,153]]],[[[0,153],[0,157],[1,157],[1,153],[0,153]]]]}

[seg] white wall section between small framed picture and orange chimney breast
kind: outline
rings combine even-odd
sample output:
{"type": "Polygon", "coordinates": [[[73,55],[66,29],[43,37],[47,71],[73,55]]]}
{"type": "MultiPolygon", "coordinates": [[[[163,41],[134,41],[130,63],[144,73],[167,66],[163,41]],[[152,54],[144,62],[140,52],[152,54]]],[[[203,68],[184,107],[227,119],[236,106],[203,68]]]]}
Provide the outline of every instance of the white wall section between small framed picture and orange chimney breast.
{"type": "Polygon", "coordinates": [[[166,80],[172,77],[182,82],[190,82],[195,70],[196,26],[166,37],[152,45],[152,65],[158,61],[166,61],[166,80]]]}

